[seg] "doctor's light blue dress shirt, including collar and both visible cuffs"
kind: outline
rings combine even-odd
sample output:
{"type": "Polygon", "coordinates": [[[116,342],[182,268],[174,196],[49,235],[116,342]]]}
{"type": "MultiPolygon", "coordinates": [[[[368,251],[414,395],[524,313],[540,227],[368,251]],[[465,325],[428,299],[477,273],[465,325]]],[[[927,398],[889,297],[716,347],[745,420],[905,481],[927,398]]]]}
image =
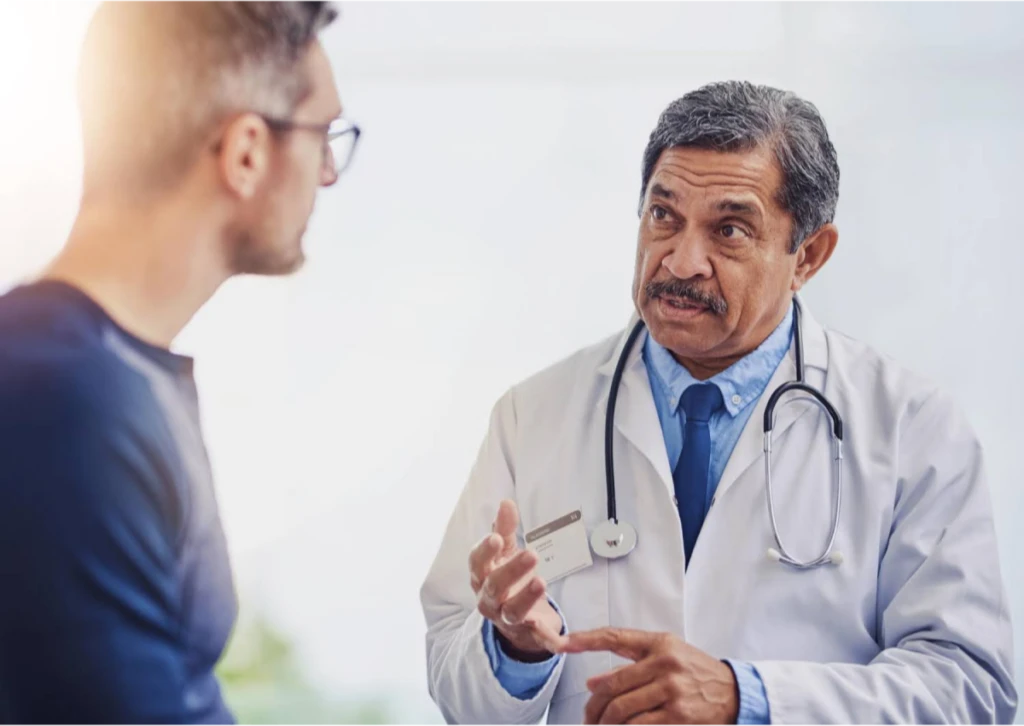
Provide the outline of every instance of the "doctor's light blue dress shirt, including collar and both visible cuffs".
{"type": "MultiPolygon", "coordinates": [[[[737,360],[730,368],[709,379],[722,391],[725,405],[711,419],[711,480],[714,489],[725,471],[725,465],[732,456],[732,450],[754,413],[755,401],[765,392],[782,358],[790,349],[793,336],[793,308],[770,336],[750,355],[737,360]]],[[[650,379],[654,397],[654,408],[662,424],[665,447],[669,456],[669,466],[675,470],[683,451],[683,428],[686,417],[679,400],[683,391],[694,383],[699,383],[690,373],[649,335],[644,342],[643,359],[650,379]]],[[[707,504],[707,503],[706,503],[707,504]]],[[[554,603],[552,602],[554,605],[554,603]]],[[[564,621],[563,621],[564,628],[564,621]]],[[[483,646],[490,659],[495,676],[505,690],[517,697],[528,699],[536,696],[547,683],[558,659],[553,656],[542,663],[524,664],[510,658],[495,637],[494,626],[483,624],[483,646]]],[[[739,688],[739,726],[761,726],[770,723],[768,696],[757,670],[749,663],[727,660],[739,688]]]]}

